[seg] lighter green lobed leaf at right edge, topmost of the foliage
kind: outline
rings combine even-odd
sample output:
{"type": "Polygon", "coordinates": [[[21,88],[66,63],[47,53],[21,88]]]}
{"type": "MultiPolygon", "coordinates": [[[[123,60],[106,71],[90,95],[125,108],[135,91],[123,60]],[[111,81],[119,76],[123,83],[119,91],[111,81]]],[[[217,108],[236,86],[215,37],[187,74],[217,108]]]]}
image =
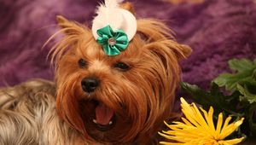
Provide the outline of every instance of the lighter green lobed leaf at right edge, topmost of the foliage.
{"type": "Polygon", "coordinates": [[[256,78],[256,60],[248,61],[247,59],[233,59],[229,61],[230,69],[235,71],[235,74],[223,73],[218,78],[213,79],[213,82],[218,86],[225,86],[226,90],[235,90],[236,84],[243,84],[256,78]]]}

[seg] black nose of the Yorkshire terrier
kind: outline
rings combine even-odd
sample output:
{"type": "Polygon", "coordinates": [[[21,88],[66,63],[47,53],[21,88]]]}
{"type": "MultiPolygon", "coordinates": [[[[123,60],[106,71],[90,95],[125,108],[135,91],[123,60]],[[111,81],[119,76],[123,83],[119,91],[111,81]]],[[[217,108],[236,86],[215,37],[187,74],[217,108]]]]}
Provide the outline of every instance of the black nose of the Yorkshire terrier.
{"type": "Polygon", "coordinates": [[[83,90],[90,93],[96,90],[96,87],[100,84],[100,81],[97,78],[84,78],[81,84],[83,90]]]}

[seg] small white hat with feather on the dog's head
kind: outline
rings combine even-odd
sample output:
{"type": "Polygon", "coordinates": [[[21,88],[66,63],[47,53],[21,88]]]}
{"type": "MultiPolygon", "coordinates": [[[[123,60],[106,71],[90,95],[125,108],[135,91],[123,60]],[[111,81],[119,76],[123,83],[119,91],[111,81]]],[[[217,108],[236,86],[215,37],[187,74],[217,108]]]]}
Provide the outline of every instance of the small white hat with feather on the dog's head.
{"type": "Polygon", "coordinates": [[[104,26],[111,26],[113,31],[122,29],[127,34],[129,41],[137,32],[137,20],[131,12],[120,9],[119,3],[123,0],[105,0],[96,9],[97,16],[92,21],[92,32],[94,38],[98,38],[96,31],[104,26]]]}

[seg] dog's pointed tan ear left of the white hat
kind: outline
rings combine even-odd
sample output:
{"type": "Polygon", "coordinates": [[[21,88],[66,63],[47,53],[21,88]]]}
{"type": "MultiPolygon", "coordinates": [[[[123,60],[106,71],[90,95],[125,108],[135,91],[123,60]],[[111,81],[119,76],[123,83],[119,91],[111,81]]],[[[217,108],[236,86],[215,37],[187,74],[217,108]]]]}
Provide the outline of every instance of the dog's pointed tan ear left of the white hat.
{"type": "Polygon", "coordinates": [[[63,31],[67,35],[74,35],[74,34],[81,34],[84,32],[88,32],[88,27],[84,25],[80,25],[79,23],[74,21],[69,21],[61,15],[57,15],[56,20],[57,20],[58,26],[61,28],[61,31],[63,31]]]}

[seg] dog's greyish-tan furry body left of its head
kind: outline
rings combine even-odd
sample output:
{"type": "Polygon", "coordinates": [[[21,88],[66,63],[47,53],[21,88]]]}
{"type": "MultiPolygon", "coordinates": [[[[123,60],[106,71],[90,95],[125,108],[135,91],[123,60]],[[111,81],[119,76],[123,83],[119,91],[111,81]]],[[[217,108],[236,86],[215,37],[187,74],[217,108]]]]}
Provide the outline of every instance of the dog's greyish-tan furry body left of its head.
{"type": "Polygon", "coordinates": [[[0,145],[88,144],[55,112],[55,84],[43,79],[0,89],[0,145]]]}

